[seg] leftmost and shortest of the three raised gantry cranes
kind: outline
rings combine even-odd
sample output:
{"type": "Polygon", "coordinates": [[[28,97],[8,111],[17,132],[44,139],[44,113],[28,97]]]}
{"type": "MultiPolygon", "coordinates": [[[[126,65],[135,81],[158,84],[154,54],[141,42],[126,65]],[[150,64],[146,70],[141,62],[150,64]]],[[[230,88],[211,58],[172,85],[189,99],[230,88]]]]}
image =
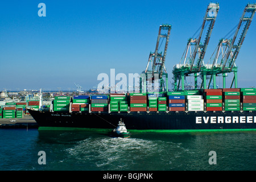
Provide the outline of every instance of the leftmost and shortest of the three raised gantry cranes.
{"type": "MultiPolygon", "coordinates": [[[[154,88],[160,87],[160,92],[168,91],[168,75],[166,67],[164,65],[166,61],[166,54],[168,48],[168,42],[171,33],[170,24],[162,24],[159,27],[158,38],[156,40],[155,52],[150,52],[148,57],[147,67],[141,74],[141,91],[142,91],[142,80],[144,90],[143,92],[154,92],[150,90],[150,84],[154,84],[154,88]],[[166,78],[166,85],[164,85],[164,77],[166,78]],[[160,86],[159,86],[160,85],[160,86]]],[[[152,86],[152,85],[151,85],[152,86]]]]}

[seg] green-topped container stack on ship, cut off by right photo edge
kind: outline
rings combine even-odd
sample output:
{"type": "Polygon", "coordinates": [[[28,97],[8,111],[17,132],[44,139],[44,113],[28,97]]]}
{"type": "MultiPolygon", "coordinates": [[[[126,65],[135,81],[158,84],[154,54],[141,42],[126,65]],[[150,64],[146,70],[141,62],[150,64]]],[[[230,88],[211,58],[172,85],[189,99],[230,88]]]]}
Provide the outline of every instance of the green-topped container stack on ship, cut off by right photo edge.
{"type": "Polygon", "coordinates": [[[243,110],[256,110],[256,88],[241,88],[243,110]]]}

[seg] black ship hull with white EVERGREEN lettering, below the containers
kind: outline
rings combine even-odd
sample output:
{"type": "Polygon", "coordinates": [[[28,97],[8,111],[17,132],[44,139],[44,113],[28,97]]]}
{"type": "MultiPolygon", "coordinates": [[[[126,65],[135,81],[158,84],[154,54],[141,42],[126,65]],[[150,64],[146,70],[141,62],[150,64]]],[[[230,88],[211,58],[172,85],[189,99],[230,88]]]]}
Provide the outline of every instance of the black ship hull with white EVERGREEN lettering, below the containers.
{"type": "Polygon", "coordinates": [[[256,111],[191,112],[49,112],[29,110],[39,130],[113,129],[120,118],[128,130],[256,130],[256,111]]]}

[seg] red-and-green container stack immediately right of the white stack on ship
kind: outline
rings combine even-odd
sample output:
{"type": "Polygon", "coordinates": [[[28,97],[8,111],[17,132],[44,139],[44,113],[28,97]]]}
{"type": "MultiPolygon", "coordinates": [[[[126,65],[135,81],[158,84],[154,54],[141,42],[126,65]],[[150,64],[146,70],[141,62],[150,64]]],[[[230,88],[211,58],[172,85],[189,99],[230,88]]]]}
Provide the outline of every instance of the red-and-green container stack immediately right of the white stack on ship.
{"type": "Polygon", "coordinates": [[[222,89],[205,89],[207,111],[222,111],[222,89]]]}

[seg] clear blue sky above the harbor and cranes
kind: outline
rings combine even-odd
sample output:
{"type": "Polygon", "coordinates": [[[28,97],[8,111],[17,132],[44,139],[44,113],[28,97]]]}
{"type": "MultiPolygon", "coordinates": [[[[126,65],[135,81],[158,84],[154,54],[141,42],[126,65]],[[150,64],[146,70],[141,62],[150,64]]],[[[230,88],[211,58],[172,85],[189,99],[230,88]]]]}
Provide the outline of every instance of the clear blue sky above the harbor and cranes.
{"type": "MultiPolygon", "coordinates": [[[[216,1],[212,1],[216,2],[216,1]]],[[[248,1],[217,1],[205,62],[236,24],[248,1]]],[[[100,73],[141,73],[154,51],[159,25],[172,25],[166,57],[169,79],[210,1],[5,1],[0,6],[0,90],[83,90],[100,73]],[[46,17],[38,4],[46,4],[46,17]]],[[[253,2],[251,2],[253,3],[253,2]]],[[[240,54],[238,87],[256,86],[256,18],[240,54]]],[[[233,76],[228,76],[227,86],[233,76]]],[[[192,78],[191,78],[192,79],[192,78]]],[[[222,83],[217,78],[217,84],[222,83]]],[[[171,80],[172,81],[172,80],[171,80]]],[[[222,84],[220,84],[222,85],[222,84]]],[[[170,89],[170,88],[169,88],[170,89]]]]}

